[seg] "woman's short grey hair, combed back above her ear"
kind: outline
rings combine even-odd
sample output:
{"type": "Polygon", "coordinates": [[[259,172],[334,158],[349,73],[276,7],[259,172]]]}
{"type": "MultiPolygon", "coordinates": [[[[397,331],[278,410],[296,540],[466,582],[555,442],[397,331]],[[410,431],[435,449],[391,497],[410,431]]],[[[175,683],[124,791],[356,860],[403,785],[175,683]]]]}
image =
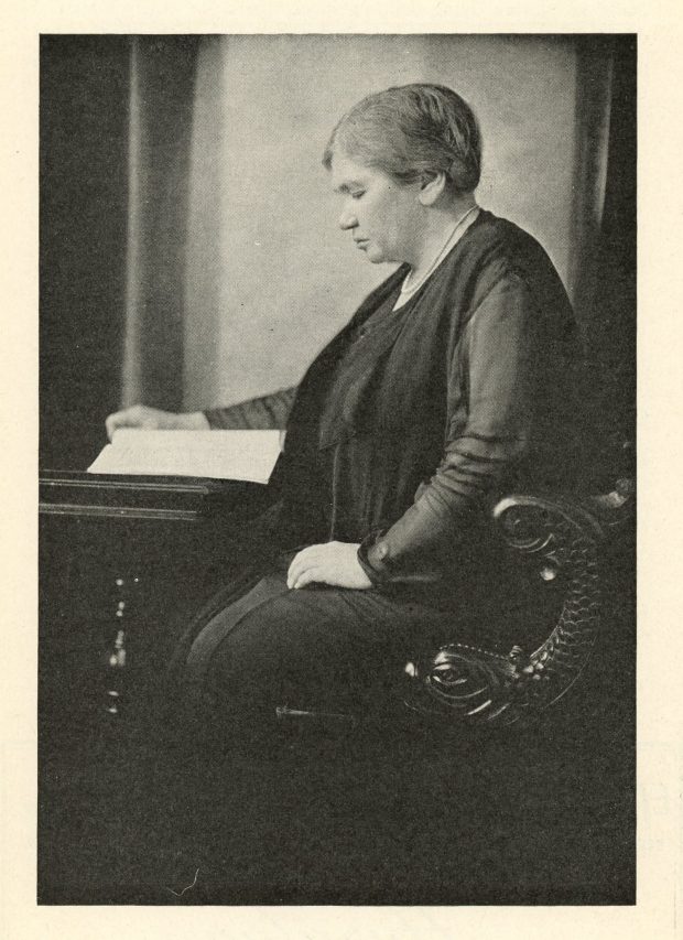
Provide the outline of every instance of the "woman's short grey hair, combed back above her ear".
{"type": "Polygon", "coordinates": [[[443,172],[452,192],[470,193],[481,175],[481,137],[469,105],[444,85],[418,83],[368,95],[333,130],[335,151],[401,183],[443,172]]]}

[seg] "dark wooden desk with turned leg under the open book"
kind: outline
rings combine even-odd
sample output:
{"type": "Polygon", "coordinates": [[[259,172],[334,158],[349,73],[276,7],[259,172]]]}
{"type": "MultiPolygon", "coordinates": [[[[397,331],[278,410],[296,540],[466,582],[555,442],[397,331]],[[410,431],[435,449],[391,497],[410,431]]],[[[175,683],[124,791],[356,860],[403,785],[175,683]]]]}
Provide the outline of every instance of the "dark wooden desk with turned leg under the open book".
{"type": "Polygon", "coordinates": [[[139,715],[183,628],[243,568],[259,484],[40,478],[40,735],[53,748],[139,715]]]}

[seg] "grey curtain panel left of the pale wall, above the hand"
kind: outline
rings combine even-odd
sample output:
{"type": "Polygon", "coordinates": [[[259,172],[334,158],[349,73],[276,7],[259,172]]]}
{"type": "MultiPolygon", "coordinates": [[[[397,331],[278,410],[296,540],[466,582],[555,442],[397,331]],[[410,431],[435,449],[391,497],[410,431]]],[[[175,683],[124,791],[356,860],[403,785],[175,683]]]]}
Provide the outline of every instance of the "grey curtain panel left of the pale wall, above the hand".
{"type": "Polygon", "coordinates": [[[131,48],[129,210],[121,404],[183,402],[188,174],[197,36],[131,48]]]}

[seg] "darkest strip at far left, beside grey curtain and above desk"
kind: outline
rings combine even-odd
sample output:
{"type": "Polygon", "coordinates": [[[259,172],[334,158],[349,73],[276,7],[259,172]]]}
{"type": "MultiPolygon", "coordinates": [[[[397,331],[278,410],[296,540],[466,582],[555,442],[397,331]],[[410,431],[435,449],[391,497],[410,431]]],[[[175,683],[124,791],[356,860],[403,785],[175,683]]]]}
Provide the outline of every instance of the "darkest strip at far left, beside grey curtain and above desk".
{"type": "Polygon", "coordinates": [[[42,467],[85,468],[119,403],[129,56],[124,36],[41,37],[42,467]]]}

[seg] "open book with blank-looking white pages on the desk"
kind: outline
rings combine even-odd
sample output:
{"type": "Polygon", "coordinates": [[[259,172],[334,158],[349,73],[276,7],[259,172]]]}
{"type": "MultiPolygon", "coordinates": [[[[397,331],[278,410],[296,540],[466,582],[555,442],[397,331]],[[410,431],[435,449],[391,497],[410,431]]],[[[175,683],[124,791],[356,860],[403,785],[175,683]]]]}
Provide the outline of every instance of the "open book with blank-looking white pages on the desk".
{"type": "Polygon", "coordinates": [[[88,473],[203,476],[268,483],[280,431],[141,431],[120,428],[88,473]]]}

